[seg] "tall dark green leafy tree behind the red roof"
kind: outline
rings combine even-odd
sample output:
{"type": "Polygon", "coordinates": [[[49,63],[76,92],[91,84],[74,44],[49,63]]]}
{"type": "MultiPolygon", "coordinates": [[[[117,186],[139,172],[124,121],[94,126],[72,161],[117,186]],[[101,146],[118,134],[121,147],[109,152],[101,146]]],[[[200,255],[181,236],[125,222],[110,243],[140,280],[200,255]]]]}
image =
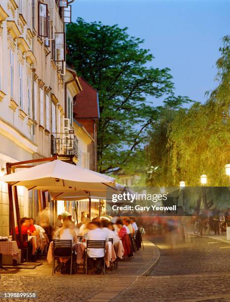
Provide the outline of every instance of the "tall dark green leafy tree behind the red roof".
{"type": "Polygon", "coordinates": [[[127,28],[78,18],[67,26],[66,37],[68,64],[99,93],[98,170],[122,169],[158,118],[153,98],[173,95],[172,76],[168,68],[148,67],[153,55],[127,28]]]}

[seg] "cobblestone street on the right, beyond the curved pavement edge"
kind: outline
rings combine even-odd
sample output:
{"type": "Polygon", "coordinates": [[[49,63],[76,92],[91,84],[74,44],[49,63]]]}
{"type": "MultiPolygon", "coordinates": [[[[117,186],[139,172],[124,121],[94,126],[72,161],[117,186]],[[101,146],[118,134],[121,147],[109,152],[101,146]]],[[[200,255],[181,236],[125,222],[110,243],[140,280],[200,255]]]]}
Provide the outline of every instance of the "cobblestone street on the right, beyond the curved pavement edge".
{"type": "Polygon", "coordinates": [[[148,277],[139,277],[113,302],[230,301],[230,244],[188,235],[174,248],[153,239],[160,260],[148,277]]]}

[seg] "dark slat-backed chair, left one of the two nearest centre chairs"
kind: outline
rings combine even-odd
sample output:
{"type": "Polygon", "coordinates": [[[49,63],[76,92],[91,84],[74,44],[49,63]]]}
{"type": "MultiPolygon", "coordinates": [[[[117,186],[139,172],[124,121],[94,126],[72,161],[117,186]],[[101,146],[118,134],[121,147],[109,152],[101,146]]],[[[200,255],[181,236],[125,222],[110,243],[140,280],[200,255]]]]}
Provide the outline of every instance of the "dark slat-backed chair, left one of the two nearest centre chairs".
{"type": "Polygon", "coordinates": [[[71,266],[70,266],[70,274],[72,274],[72,253],[73,253],[73,246],[72,240],[53,240],[53,269],[52,275],[55,274],[55,259],[61,258],[71,258],[71,266]],[[66,252],[66,256],[62,256],[60,249],[63,249],[66,252]]]}

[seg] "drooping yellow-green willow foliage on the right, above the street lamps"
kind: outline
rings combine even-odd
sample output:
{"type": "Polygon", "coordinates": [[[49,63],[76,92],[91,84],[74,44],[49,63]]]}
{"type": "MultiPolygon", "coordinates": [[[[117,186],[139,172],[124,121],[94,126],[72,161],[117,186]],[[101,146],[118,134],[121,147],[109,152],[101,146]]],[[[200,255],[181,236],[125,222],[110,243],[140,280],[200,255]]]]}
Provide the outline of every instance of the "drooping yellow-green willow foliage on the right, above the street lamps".
{"type": "Polygon", "coordinates": [[[194,103],[189,110],[174,111],[170,118],[166,111],[159,128],[153,128],[148,154],[151,165],[158,168],[149,178],[152,185],[158,180],[161,186],[178,186],[183,180],[188,186],[197,186],[201,174],[207,175],[209,186],[228,185],[225,165],[230,163],[229,36],[223,38],[220,51],[216,78],[219,83],[207,93],[207,102],[194,103]]]}

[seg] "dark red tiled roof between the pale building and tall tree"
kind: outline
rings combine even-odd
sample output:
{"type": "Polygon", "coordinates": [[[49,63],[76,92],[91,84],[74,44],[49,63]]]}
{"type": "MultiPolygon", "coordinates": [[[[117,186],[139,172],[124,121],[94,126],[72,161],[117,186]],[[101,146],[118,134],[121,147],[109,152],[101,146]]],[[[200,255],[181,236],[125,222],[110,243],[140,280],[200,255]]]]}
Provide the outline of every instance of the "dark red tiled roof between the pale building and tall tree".
{"type": "Polygon", "coordinates": [[[99,118],[97,90],[82,77],[77,77],[82,91],[75,97],[74,118],[99,118]]]}

